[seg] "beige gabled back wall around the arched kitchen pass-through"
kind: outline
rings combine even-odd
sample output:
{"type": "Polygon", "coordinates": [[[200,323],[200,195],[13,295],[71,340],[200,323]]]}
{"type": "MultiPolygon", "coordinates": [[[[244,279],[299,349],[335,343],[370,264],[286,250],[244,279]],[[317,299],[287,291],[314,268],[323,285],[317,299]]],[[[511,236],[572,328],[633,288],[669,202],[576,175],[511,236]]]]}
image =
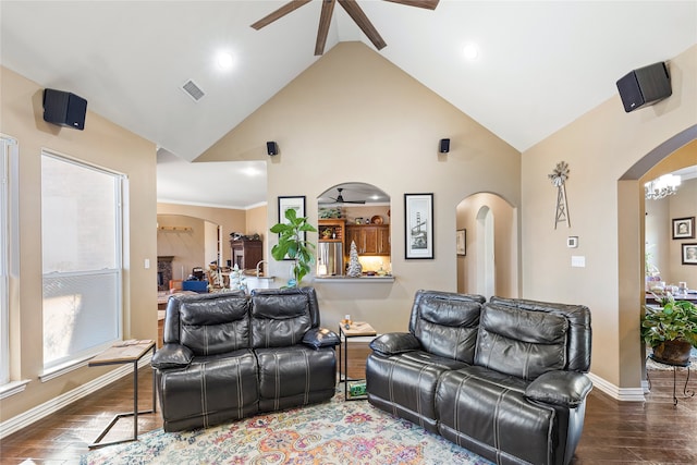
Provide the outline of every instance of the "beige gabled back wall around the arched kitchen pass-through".
{"type": "MultiPolygon", "coordinates": [[[[269,161],[268,224],[278,221],[281,195],[305,195],[316,224],[317,196],[344,182],[390,195],[395,225],[404,224],[405,193],[433,193],[435,259],[405,260],[395,227],[394,283],[314,284],[322,322],[333,328],[350,314],[379,332],[404,330],[416,290],[456,290],[457,204],[491,192],[519,206],[519,152],[358,42],[339,44],[197,161],[249,159],[269,161]],[[443,137],[451,150],[439,155],[443,137]],[[280,154],[269,158],[265,140],[277,140],[280,154]]],[[[274,242],[265,243],[267,250],[274,242]]],[[[271,262],[271,274],[286,277],[288,262],[271,262]]]]}

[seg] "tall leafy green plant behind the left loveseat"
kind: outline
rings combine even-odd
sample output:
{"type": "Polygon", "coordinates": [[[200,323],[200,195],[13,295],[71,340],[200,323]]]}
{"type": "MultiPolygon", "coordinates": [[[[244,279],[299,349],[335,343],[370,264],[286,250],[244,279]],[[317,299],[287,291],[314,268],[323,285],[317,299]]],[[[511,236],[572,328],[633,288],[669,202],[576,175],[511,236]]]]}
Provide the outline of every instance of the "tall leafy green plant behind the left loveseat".
{"type": "Polygon", "coordinates": [[[285,210],[285,219],[286,223],[278,223],[271,228],[272,233],[279,234],[279,243],[271,247],[271,256],[276,260],[283,260],[285,257],[293,260],[293,277],[285,287],[298,287],[315,259],[315,244],[305,240],[305,233],[317,230],[307,222],[307,217],[298,218],[293,208],[285,210]]]}

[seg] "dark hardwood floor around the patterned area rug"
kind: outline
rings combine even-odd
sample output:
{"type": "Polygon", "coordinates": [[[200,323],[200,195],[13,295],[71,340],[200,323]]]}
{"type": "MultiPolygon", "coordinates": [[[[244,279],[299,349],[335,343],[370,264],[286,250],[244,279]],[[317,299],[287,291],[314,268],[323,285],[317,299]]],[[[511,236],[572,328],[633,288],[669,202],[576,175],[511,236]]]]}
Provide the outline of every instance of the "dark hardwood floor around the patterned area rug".
{"type": "MultiPolygon", "coordinates": [[[[151,402],[150,370],[140,370],[140,409],[151,402]]],[[[678,372],[678,403],[673,407],[672,371],[651,371],[646,403],[617,402],[594,390],[574,464],[697,464],[697,396],[682,399],[685,371],[678,372]]],[[[88,451],[117,413],[133,409],[132,378],[100,391],[2,440],[2,464],[74,464],[88,451]],[[26,461],[26,462],[25,462],[26,461]]],[[[693,372],[688,389],[697,389],[693,372]]],[[[138,431],[160,428],[160,414],[142,415],[138,431]]],[[[105,441],[127,438],[133,419],[119,420],[105,441]]]]}

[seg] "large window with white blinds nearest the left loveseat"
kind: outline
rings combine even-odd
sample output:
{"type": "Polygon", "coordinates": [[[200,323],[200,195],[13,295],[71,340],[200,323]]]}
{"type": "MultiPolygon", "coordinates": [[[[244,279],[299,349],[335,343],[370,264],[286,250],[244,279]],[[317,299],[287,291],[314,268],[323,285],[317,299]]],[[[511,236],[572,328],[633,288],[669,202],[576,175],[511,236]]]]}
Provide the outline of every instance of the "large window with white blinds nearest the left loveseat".
{"type": "Polygon", "coordinates": [[[44,369],[121,338],[122,175],[41,156],[44,369]]]}

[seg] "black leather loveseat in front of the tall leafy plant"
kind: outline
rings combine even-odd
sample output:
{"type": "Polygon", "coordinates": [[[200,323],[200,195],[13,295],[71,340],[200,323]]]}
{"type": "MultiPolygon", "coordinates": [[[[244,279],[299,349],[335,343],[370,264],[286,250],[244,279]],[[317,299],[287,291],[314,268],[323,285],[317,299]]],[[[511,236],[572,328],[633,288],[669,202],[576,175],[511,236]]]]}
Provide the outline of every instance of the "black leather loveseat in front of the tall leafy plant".
{"type": "Polygon", "coordinates": [[[335,333],[313,287],[170,297],[152,357],[166,431],[331,399],[335,333]]]}

